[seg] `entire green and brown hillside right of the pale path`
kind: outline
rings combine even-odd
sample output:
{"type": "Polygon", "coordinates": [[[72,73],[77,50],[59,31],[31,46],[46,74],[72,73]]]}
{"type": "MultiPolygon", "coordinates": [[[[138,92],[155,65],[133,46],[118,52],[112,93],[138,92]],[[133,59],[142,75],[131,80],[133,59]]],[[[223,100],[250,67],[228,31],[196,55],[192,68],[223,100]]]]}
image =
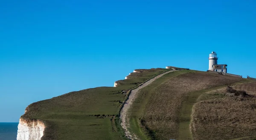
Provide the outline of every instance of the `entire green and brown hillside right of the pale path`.
{"type": "Polygon", "coordinates": [[[166,74],[140,90],[129,116],[130,131],[141,140],[228,140],[253,136],[256,111],[251,106],[256,104],[256,82],[251,82],[192,70],[166,74]],[[252,96],[226,96],[219,89],[227,85],[250,90],[252,96]]]}

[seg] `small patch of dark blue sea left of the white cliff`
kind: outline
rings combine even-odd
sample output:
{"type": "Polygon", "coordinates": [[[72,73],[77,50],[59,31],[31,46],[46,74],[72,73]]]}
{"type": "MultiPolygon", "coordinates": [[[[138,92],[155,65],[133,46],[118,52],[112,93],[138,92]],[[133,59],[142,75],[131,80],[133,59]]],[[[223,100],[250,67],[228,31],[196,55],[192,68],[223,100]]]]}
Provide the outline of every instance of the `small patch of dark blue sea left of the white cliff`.
{"type": "Polygon", "coordinates": [[[16,140],[19,123],[0,123],[0,140],[16,140]]]}

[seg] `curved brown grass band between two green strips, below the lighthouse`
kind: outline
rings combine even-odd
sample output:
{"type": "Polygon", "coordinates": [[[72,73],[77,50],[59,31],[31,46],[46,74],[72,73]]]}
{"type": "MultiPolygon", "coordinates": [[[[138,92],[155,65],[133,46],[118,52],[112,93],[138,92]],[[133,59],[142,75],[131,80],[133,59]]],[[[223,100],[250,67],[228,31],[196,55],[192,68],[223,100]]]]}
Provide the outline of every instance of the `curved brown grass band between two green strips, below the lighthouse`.
{"type": "Polygon", "coordinates": [[[137,105],[149,92],[151,95],[145,104],[143,115],[138,118],[150,131],[148,133],[154,133],[154,138],[178,139],[180,110],[189,93],[240,80],[241,78],[204,72],[179,75],[154,87],[141,90],[137,105]]]}

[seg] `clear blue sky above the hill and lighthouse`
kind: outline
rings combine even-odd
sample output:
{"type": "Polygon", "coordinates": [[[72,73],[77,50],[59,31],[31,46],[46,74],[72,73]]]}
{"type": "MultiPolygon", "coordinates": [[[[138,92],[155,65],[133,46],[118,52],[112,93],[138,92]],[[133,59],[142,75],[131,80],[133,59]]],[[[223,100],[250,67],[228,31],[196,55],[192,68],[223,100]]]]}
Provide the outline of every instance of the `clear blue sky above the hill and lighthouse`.
{"type": "Polygon", "coordinates": [[[139,68],[256,77],[255,0],[0,0],[0,122],[139,68]]]}

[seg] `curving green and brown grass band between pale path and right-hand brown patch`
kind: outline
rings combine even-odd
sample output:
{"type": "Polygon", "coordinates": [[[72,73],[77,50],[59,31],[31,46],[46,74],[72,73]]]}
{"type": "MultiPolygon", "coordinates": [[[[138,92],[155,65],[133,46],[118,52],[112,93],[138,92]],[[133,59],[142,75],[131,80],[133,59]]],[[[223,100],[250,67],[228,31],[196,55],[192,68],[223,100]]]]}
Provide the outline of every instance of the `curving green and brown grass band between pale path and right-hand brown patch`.
{"type": "Polygon", "coordinates": [[[242,80],[192,70],[183,72],[182,74],[175,72],[177,76],[173,76],[174,73],[166,74],[140,91],[131,109],[130,123],[131,130],[141,139],[183,140],[179,131],[189,129],[192,104],[200,95],[192,97],[191,101],[193,101],[188,101],[189,104],[186,105],[190,93],[242,80]],[[184,104],[188,110],[186,107],[184,109],[184,104]],[[186,129],[180,126],[182,123],[186,124],[184,125],[187,126],[186,129]]]}

